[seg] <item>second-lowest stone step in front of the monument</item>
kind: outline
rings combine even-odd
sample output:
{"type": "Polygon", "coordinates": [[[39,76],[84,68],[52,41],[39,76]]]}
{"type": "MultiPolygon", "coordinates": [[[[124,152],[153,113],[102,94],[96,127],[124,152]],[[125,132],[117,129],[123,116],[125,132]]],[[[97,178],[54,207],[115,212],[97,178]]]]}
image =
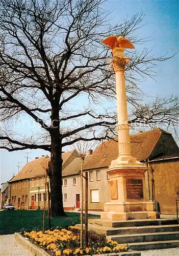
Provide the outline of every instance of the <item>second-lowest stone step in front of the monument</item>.
{"type": "Polygon", "coordinates": [[[158,233],[142,233],[142,234],[120,234],[120,236],[118,235],[107,236],[107,239],[116,241],[118,244],[179,240],[179,232],[177,231],[177,232],[158,232],[158,233]]]}

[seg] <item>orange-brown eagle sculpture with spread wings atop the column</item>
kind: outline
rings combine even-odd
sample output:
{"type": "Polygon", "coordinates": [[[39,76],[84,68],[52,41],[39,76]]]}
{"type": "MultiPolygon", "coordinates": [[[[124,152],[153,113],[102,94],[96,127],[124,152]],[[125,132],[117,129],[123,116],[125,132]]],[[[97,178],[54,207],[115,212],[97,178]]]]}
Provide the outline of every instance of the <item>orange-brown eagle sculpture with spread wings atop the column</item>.
{"type": "Polygon", "coordinates": [[[109,36],[102,40],[104,45],[109,46],[110,49],[114,49],[115,47],[119,48],[131,48],[134,49],[135,47],[133,46],[132,42],[129,39],[126,39],[123,36],[117,37],[116,35],[109,36]]]}

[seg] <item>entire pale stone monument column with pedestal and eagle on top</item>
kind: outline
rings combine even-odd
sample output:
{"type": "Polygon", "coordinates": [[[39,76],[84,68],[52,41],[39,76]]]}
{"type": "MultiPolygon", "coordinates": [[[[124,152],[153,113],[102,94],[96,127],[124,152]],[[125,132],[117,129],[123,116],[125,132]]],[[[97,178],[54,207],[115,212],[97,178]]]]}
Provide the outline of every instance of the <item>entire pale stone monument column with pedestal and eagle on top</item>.
{"type": "Polygon", "coordinates": [[[119,155],[107,169],[110,174],[111,202],[104,204],[101,218],[112,220],[160,218],[159,213],[155,211],[154,202],[147,201],[145,184],[147,166],[131,154],[124,77],[125,65],[130,59],[124,56],[124,49],[134,46],[130,40],[117,36],[107,37],[102,42],[112,49],[113,54],[109,64],[116,74],[119,155]]]}

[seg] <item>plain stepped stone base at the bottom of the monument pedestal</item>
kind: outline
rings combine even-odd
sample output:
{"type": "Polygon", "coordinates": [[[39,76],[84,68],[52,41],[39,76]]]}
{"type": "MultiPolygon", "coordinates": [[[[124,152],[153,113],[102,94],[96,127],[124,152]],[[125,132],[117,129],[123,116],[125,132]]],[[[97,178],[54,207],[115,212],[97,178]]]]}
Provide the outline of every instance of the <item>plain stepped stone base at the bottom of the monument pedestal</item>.
{"type": "Polygon", "coordinates": [[[154,202],[105,203],[101,219],[160,219],[160,213],[155,211],[154,202]]]}

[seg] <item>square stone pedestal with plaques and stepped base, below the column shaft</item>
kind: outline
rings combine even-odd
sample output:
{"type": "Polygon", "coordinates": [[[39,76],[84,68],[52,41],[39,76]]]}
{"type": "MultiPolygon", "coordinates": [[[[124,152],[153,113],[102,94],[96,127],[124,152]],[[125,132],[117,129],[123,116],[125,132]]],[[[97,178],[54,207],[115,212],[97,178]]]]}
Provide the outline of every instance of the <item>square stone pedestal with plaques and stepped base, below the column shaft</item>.
{"type": "Polygon", "coordinates": [[[111,202],[104,204],[101,219],[158,219],[155,203],[147,201],[145,172],[147,166],[136,158],[118,157],[112,161],[110,173],[111,202]],[[125,161],[124,161],[125,159],[125,161]],[[124,163],[125,162],[125,163],[124,163]]]}

